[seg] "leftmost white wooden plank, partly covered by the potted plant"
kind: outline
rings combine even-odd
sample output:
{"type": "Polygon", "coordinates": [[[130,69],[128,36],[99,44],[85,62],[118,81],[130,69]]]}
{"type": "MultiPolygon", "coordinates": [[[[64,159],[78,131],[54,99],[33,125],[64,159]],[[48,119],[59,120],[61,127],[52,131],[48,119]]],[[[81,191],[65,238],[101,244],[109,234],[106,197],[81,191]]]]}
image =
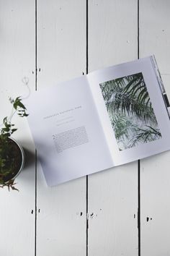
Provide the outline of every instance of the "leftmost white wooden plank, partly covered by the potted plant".
{"type": "MultiPolygon", "coordinates": [[[[35,2],[0,1],[0,123],[9,116],[12,106],[8,98],[25,96],[28,77],[35,88],[35,2]]],[[[35,148],[26,119],[12,119],[18,131],[13,136],[26,153],[25,168],[16,179],[17,191],[0,189],[0,248],[3,256],[34,255],[35,250],[35,148]]]]}

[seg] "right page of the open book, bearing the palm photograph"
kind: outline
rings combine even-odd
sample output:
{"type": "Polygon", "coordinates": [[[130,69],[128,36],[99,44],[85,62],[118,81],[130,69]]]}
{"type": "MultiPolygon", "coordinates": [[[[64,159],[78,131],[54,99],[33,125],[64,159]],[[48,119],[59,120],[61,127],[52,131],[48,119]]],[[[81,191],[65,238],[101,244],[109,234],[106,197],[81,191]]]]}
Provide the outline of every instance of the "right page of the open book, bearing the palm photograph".
{"type": "Polygon", "coordinates": [[[170,119],[154,56],[87,75],[114,166],[170,149],[170,119]]]}

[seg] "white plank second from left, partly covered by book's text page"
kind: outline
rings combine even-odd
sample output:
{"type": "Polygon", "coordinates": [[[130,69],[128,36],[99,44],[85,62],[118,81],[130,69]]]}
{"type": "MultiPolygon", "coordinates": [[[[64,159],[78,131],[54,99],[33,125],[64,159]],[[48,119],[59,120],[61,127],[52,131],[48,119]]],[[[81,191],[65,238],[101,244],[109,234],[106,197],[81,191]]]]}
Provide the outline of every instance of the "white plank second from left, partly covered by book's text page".
{"type": "MultiPolygon", "coordinates": [[[[86,72],[85,1],[37,1],[37,90],[82,72],[86,72]]],[[[39,166],[37,256],[49,252],[86,255],[86,178],[50,188],[39,166]]]]}

